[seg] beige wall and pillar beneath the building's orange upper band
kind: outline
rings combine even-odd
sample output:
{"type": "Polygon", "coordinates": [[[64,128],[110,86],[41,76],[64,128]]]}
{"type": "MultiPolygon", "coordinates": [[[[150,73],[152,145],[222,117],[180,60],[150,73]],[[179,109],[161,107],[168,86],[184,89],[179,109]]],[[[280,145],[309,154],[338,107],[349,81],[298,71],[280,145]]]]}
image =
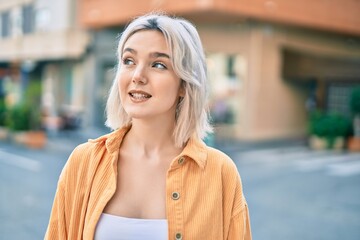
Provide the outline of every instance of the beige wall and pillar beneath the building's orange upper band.
{"type": "Polygon", "coordinates": [[[358,44],[349,46],[347,37],[331,34],[258,23],[200,25],[198,29],[207,52],[240,54],[247,61],[246,75],[237,97],[238,114],[234,126],[234,137],[239,139],[306,135],[308,89],[303,83],[284,79],[284,48],[310,51],[340,61],[360,59],[358,44]]]}

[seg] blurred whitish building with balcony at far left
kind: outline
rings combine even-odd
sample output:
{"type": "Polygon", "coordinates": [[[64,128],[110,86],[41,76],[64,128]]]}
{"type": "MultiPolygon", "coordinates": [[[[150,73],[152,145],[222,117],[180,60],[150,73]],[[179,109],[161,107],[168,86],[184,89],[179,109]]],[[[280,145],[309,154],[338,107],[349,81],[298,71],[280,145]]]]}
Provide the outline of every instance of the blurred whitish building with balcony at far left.
{"type": "Polygon", "coordinates": [[[40,82],[50,129],[59,128],[62,114],[84,111],[90,36],[76,24],[76,13],[71,0],[0,0],[0,92],[15,105],[40,82]]]}

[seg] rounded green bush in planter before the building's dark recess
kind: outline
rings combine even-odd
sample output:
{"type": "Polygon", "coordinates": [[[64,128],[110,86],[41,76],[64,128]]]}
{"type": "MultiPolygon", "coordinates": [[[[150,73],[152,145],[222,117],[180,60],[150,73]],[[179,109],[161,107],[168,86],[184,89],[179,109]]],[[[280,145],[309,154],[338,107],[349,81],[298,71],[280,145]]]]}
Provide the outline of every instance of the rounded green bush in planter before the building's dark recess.
{"type": "Polygon", "coordinates": [[[337,137],[351,134],[351,120],[339,114],[314,112],[310,117],[310,134],[325,138],[331,148],[337,137]]]}

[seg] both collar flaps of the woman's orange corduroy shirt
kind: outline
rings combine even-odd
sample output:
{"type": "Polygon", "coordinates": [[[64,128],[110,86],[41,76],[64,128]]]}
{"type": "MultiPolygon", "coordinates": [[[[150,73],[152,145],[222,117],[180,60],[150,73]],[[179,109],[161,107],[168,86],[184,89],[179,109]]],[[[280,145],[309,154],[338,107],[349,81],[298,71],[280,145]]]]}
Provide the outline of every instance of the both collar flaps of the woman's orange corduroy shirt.
{"type": "MultiPolygon", "coordinates": [[[[91,142],[105,142],[107,151],[110,154],[117,153],[119,151],[120,145],[124,136],[129,131],[131,126],[126,126],[119,128],[109,134],[101,136],[94,140],[89,140],[91,142]]],[[[186,156],[197,163],[197,165],[204,169],[207,159],[206,145],[203,141],[191,137],[185,145],[185,148],[181,152],[180,156],[186,156]]]]}

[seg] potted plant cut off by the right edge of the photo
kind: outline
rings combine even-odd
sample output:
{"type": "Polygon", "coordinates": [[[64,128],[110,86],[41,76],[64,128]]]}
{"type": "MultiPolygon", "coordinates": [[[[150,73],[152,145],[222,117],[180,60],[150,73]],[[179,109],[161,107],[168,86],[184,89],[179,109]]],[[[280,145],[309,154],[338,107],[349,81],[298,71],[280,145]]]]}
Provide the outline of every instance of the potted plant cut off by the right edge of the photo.
{"type": "Polygon", "coordinates": [[[350,110],[353,114],[353,136],[349,138],[348,149],[360,151],[360,87],[353,89],[350,95],[350,110]]]}

